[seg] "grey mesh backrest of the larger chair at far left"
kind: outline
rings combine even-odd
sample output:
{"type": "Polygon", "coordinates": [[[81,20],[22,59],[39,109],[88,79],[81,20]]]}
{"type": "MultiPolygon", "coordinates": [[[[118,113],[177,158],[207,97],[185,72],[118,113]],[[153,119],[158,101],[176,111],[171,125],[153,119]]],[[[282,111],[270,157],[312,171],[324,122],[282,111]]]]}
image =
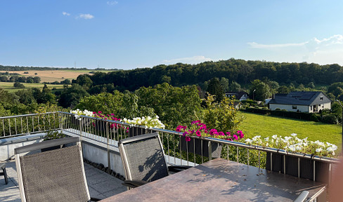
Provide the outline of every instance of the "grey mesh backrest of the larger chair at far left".
{"type": "Polygon", "coordinates": [[[67,137],[15,149],[22,201],[89,201],[79,137],[67,137]],[[69,144],[48,152],[38,149],[69,144]],[[29,152],[28,154],[26,154],[29,152]],[[31,154],[30,154],[31,153],[31,154]],[[26,154],[22,156],[23,154],[26,154]]]}

